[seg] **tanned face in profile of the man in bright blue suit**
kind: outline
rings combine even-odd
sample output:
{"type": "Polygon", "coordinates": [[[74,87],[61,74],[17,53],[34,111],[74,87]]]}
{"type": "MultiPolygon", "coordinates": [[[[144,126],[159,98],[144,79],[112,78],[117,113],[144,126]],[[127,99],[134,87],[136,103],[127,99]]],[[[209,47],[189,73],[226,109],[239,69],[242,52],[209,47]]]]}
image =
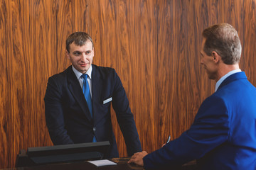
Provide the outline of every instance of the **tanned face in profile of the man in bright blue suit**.
{"type": "Polygon", "coordinates": [[[203,51],[204,44],[206,42],[206,38],[203,38],[202,47],[201,47],[201,64],[203,64],[206,69],[206,73],[208,74],[209,79],[217,79],[218,67],[215,62],[215,53],[212,52],[212,55],[206,55],[206,52],[203,51]]]}

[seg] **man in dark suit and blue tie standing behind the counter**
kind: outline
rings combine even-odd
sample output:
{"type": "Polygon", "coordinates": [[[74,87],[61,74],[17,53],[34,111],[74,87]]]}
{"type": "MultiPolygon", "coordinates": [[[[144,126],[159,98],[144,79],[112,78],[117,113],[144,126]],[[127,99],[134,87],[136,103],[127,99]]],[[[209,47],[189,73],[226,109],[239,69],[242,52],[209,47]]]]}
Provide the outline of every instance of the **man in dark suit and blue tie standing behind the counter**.
{"type": "Polygon", "coordinates": [[[72,65],[48,79],[44,98],[46,124],[53,144],[110,141],[107,157],[119,157],[112,131],[112,103],[129,156],[141,152],[122,82],[114,69],[92,64],[94,47],[90,35],[71,34],[66,40],[66,55],[72,65]]]}

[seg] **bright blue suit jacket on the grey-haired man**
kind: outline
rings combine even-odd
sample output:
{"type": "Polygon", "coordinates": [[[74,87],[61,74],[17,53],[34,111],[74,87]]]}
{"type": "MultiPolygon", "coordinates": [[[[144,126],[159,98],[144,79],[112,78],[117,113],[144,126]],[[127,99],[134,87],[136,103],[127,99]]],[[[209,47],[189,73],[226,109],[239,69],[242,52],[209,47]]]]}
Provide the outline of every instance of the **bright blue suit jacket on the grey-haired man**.
{"type": "Polygon", "coordinates": [[[230,75],[203,101],[191,128],[144,157],[146,169],[198,160],[199,169],[256,169],[256,89],[230,75]]]}

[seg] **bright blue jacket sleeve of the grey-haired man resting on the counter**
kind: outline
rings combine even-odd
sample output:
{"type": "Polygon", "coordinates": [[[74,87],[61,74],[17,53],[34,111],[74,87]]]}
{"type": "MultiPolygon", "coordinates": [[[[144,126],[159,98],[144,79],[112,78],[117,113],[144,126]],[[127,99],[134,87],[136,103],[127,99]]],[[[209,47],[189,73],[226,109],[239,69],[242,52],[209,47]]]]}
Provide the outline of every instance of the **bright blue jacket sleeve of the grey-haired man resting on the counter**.
{"type": "Polygon", "coordinates": [[[210,96],[201,105],[191,128],[144,157],[146,169],[178,166],[199,159],[228,140],[229,116],[225,102],[210,96]]]}

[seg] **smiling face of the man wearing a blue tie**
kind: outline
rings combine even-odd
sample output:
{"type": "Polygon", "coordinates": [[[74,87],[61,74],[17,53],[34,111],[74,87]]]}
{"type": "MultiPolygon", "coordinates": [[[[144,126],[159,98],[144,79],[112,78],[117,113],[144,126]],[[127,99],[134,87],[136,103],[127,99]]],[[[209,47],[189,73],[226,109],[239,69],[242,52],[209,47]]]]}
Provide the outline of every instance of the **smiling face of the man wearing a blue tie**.
{"type": "Polygon", "coordinates": [[[70,44],[70,52],[66,51],[66,55],[73,67],[77,69],[82,74],[85,74],[87,70],[92,65],[92,60],[94,57],[94,49],[92,47],[92,42],[88,40],[85,45],[79,46],[75,45],[75,42],[70,44]]]}

